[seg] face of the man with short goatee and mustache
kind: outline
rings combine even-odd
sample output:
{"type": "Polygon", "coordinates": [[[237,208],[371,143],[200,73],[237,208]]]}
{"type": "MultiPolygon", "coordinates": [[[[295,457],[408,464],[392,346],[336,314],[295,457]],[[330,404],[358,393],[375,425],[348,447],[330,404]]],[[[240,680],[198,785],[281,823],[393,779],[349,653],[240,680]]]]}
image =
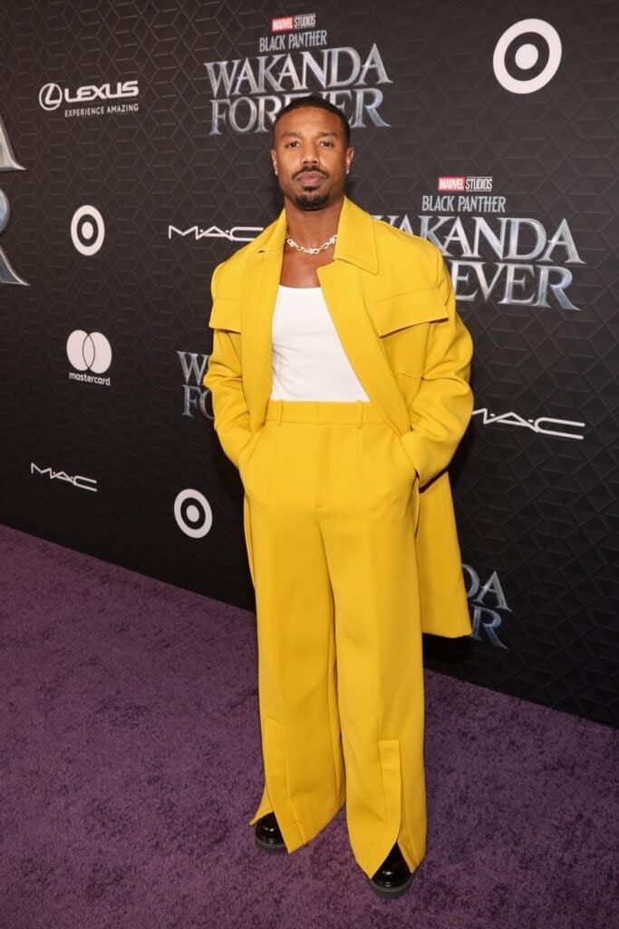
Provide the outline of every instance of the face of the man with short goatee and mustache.
{"type": "Polygon", "coordinates": [[[346,148],[342,122],[319,107],[299,107],[277,122],[273,168],[285,197],[302,210],[335,203],[355,150],[346,148]]]}

